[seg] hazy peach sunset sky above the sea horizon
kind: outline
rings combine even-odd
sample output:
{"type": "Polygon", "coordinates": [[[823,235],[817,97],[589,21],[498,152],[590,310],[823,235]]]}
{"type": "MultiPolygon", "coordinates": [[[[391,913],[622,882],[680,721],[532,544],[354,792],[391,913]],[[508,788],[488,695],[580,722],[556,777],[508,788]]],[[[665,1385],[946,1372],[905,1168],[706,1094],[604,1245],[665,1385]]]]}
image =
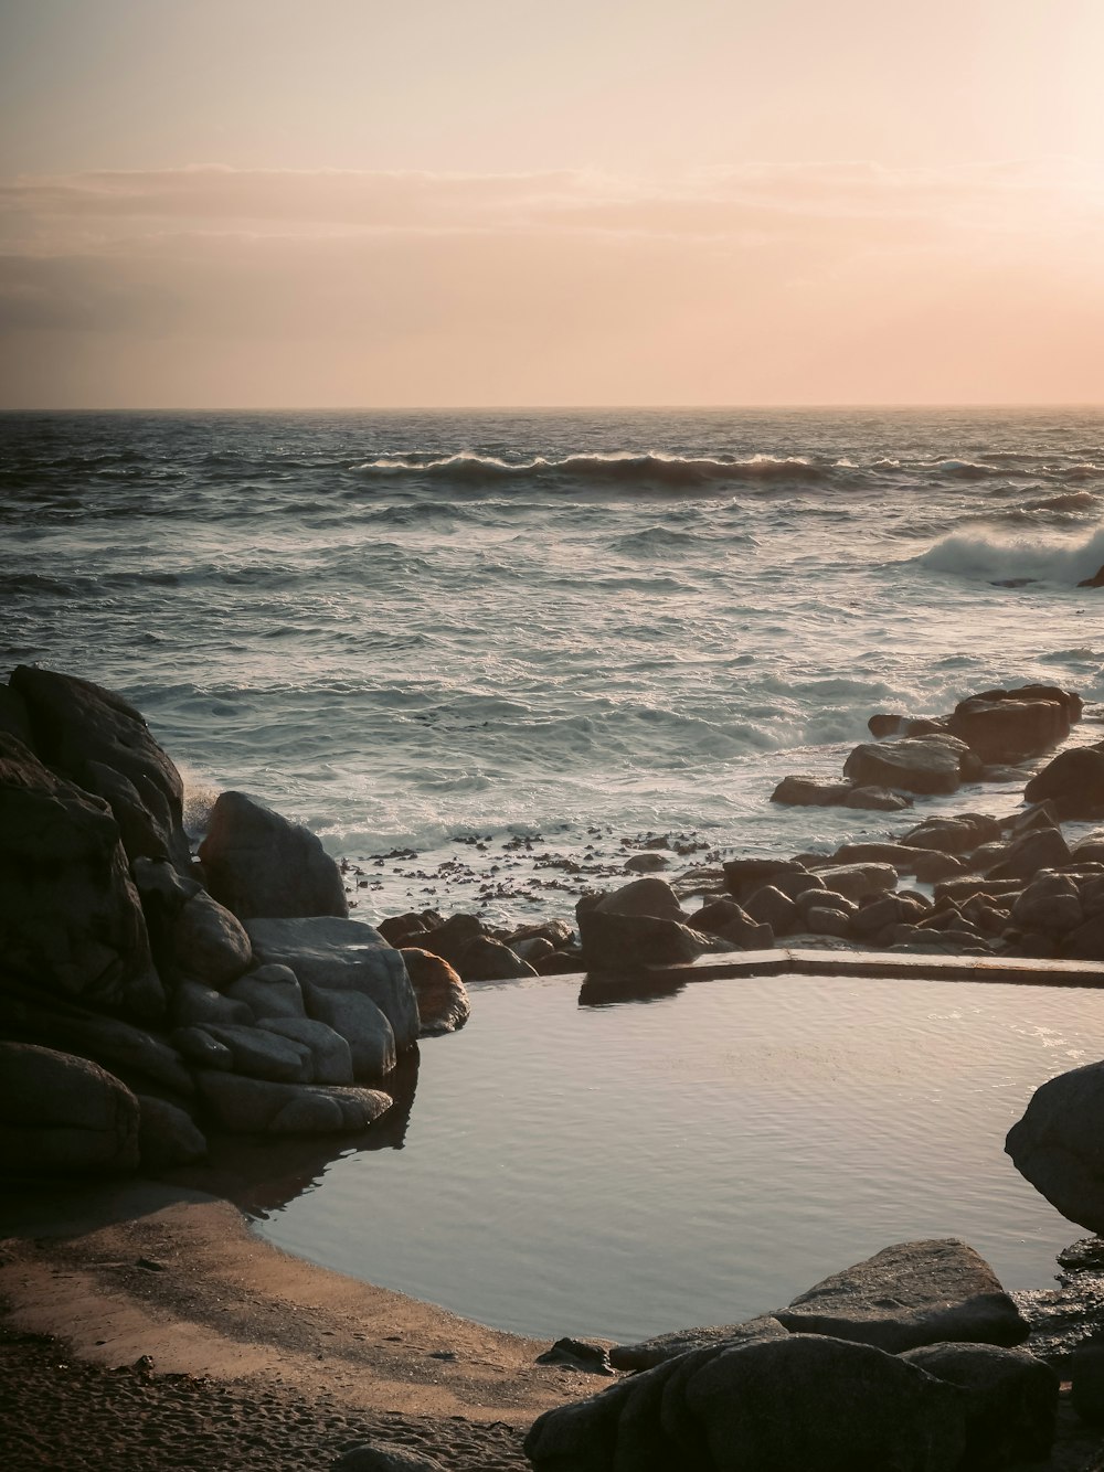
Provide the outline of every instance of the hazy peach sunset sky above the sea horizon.
{"type": "Polygon", "coordinates": [[[1101,0],[0,0],[0,406],[1104,402],[1101,0]]]}

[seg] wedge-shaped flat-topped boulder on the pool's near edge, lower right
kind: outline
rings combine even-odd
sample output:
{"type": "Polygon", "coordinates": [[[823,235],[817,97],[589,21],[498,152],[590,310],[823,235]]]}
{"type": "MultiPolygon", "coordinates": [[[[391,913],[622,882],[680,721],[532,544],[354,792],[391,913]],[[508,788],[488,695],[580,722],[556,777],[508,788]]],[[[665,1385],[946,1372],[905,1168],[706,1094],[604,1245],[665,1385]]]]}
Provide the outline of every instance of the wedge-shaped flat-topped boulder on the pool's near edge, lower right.
{"type": "Polygon", "coordinates": [[[889,1354],[944,1340],[1020,1344],[1029,1332],[992,1267],[957,1238],[886,1247],[774,1317],[790,1334],[827,1334],[889,1354]]]}

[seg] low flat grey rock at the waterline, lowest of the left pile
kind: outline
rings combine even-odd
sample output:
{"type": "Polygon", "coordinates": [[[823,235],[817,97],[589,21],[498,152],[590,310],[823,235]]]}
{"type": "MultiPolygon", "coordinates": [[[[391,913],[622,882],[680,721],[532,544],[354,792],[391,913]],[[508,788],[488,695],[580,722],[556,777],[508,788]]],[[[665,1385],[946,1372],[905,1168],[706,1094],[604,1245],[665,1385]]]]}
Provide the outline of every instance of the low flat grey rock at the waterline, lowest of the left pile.
{"type": "Polygon", "coordinates": [[[231,1135],[334,1135],[365,1129],[392,1105],[378,1089],[268,1083],[237,1073],[196,1075],[199,1095],[231,1135]]]}

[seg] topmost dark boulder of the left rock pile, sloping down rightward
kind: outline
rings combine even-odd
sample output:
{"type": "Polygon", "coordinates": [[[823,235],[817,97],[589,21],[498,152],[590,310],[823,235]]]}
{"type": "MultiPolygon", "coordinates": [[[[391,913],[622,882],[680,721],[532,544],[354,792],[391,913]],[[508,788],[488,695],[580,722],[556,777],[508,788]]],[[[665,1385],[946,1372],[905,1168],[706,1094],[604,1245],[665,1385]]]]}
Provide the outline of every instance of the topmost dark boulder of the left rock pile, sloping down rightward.
{"type": "Polygon", "coordinates": [[[141,714],[91,680],[52,670],[21,664],[10,686],[43,761],[110,804],[128,858],[168,858],[187,873],[184,783],[141,714]]]}

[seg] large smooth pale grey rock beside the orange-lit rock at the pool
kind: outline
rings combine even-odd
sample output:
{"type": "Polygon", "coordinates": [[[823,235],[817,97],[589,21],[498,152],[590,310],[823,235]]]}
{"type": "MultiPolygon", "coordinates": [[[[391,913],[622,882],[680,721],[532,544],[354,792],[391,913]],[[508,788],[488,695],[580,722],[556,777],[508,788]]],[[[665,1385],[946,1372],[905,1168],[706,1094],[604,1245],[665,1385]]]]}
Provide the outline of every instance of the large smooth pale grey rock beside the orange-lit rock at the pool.
{"type": "Polygon", "coordinates": [[[399,1052],[417,1039],[418,1001],[406,967],[394,946],[369,924],[325,917],[250,920],[246,930],[262,964],[287,966],[299,977],[311,1017],[330,1023],[347,1038],[333,1022],[333,1008],[321,1010],[318,998],[324,991],[361,994],[374,1001],[390,1023],[399,1052]]]}

